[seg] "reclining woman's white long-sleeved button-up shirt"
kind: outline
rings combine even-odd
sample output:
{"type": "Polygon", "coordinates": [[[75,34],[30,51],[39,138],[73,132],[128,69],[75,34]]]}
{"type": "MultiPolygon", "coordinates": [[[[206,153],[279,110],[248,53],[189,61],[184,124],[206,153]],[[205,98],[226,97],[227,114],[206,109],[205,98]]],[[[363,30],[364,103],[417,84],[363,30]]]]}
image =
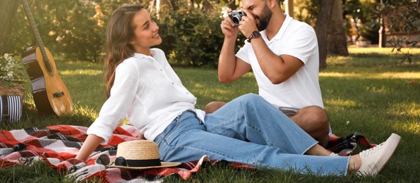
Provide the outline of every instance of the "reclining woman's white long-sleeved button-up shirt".
{"type": "Polygon", "coordinates": [[[88,134],[107,142],[121,120],[127,118],[146,139],[153,141],[184,111],[196,111],[203,118],[204,112],[194,108],[196,97],[181,83],[164,52],[150,51],[152,56],[134,53],[116,67],[111,96],[90,125],[88,134]]]}

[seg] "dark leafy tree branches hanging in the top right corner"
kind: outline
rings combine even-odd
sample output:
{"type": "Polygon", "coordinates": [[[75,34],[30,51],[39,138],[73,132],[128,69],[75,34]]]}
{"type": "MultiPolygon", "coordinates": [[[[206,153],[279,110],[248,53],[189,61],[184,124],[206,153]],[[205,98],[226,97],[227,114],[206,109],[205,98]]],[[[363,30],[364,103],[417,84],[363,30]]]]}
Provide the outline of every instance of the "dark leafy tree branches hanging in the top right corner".
{"type": "Polygon", "coordinates": [[[412,63],[413,55],[411,53],[412,47],[416,47],[420,43],[420,37],[416,39],[409,39],[413,33],[420,32],[420,1],[402,0],[402,1],[384,1],[380,5],[377,15],[388,15],[390,24],[387,25],[390,33],[406,32],[408,37],[395,38],[392,37],[388,41],[391,44],[392,51],[402,53],[402,61],[412,63]],[[402,51],[403,47],[410,47],[408,51],[402,51]]]}

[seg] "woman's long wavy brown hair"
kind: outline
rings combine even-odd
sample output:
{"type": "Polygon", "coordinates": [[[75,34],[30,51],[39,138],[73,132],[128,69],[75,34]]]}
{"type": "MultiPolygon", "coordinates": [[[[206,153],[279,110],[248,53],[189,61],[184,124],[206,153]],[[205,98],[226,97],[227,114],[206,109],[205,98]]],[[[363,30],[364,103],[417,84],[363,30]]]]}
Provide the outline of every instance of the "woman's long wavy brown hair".
{"type": "Polygon", "coordinates": [[[107,97],[111,94],[111,88],[114,85],[115,69],[122,61],[133,55],[133,46],[129,42],[134,37],[133,25],[134,15],[143,9],[140,5],[121,6],[109,18],[107,31],[107,57],[105,58],[105,67],[107,72],[105,80],[107,81],[107,97]]]}

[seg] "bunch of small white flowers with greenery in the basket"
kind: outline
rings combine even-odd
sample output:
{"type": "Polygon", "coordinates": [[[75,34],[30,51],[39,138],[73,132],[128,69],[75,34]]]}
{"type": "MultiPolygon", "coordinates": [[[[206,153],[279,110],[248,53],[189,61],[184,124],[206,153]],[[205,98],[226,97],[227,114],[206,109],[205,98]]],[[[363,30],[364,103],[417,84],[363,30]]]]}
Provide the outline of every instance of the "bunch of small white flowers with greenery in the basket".
{"type": "Polygon", "coordinates": [[[22,60],[13,54],[0,56],[0,85],[12,87],[28,82],[28,74],[22,60]]]}

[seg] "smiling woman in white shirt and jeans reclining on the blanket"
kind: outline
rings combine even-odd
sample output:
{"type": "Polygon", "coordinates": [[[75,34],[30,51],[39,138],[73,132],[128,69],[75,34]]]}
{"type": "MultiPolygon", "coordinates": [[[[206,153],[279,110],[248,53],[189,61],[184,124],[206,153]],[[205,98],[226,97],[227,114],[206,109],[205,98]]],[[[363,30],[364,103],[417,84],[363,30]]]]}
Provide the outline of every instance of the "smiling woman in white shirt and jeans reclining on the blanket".
{"type": "Polygon", "coordinates": [[[164,161],[186,162],[208,155],[322,175],[376,175],[400,141],[392,134],[359,155],[337,156],[256,94],[241,96],[205,115],[194,108],[196,97],[182,85],[163,51],[150,49],[162,42],[158,30],[141,6],[122,6],[113,13],[106,32],[109,99],[89,127],[77,159],[85,160],[101,142],[109,141],[124,118],[145,139],[158,144],[164,161]]]}

